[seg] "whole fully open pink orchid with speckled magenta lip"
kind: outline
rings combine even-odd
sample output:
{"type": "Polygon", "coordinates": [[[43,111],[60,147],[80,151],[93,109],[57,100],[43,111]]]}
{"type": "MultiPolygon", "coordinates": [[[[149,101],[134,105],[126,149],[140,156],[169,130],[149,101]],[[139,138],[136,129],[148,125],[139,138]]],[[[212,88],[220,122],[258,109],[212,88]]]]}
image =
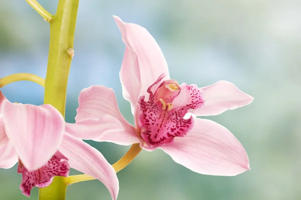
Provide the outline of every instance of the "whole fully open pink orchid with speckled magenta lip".
{"type": "Polygon", "coordinates": [[[199,88],[170,79],[156,40],[143,27],[114,19],[126,45],[120,70],[123,97],[135,127],[120,113],[114,91],[97,85],[79,95],[76,123],[68,132],[85,139],[163,149],[176,162],[202,174],[236,175],[249,169],[247,153],[224,126],[198,116],[217,115],[252,102],[233,83],[199,88]]]}

